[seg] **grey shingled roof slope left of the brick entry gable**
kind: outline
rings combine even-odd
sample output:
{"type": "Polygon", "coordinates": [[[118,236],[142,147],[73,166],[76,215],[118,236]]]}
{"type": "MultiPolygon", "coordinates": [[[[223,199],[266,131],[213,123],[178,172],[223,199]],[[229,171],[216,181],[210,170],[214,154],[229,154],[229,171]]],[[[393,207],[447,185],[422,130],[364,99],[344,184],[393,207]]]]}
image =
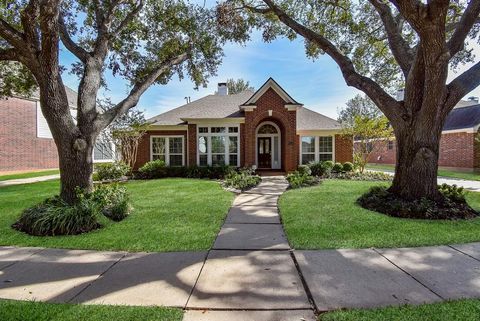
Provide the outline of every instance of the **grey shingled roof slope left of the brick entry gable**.
{"type": "Polygon", "coordinates": [[[232,118],[244,117],[239,106],[250,98],[253,92],[243,91],[234,95],[208,95],[148,119],[152,125],[184,125],[184,119],[191,118],[232,118]]]}

